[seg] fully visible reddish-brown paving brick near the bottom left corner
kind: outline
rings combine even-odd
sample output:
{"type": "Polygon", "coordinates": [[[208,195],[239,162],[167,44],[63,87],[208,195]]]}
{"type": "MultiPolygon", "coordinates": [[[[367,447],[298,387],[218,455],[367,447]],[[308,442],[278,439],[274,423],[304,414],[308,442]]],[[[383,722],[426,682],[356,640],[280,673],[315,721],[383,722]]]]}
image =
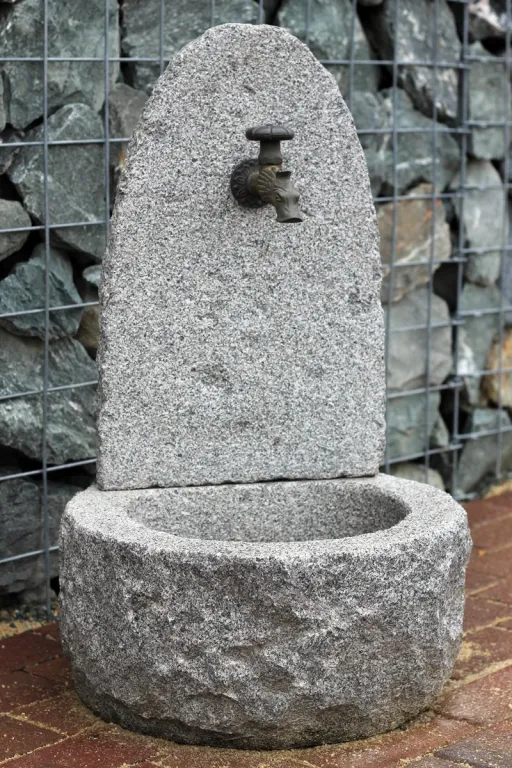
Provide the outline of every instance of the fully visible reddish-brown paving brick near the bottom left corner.
{"type": "Polygon", "coordinates": [[[34,725],[53,728],[67,736],[73,736],[98,724],[98,718],[84,707],[74,691],[46,701],[38,701],[30,706],[18,706],[10,714],[34,725]]]}

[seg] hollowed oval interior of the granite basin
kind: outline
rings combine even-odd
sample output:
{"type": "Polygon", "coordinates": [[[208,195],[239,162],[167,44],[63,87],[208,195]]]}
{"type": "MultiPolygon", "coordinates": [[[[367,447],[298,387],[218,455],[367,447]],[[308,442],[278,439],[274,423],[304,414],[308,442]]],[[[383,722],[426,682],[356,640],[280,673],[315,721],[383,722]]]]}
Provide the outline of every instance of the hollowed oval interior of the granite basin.
{"type": "Polygon", "coordinates": [[[163,489],[128,515],[188,539],[278,542],[341,539],[390,528],[410,512],[371,480],[321,480],[163,489]]]}

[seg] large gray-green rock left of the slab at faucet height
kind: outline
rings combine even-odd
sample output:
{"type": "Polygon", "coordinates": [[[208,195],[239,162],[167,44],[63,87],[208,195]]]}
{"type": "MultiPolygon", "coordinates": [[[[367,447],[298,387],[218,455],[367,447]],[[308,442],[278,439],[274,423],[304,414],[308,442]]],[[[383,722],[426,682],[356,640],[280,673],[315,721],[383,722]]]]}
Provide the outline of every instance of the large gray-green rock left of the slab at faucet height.
{"type": "MultiPolygon", "coordinates": [[[[102,137],[101,119],[85,104],[70,104],[48,118],[48,138],[51,141],[84,141],[102,137]]],[[[42,138],[42,125],[26,134],[27,141],[40,141],[42,138]]],[[[51,223],[104,220],[103,147],[99,144],[52,146],[48,150],[48,163],[51,223]]],[[[8,175],[31,216],[44,222],[43,155],[40,148],[21,149],[8,175]]],[[[51,236],[56,246],[63,245],[97,261],[103,256],[105,227],[101,224],[52,229],[51,236]]]]}

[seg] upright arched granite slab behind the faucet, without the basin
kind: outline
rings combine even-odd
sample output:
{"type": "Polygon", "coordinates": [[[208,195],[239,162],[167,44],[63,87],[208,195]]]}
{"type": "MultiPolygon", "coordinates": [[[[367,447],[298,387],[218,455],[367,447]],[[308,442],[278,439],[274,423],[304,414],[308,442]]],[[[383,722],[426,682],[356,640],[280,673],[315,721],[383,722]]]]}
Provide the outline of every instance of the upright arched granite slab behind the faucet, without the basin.
{"type": "Polygon", "coordinates": [[[135,133],[102,279],[103,489],[377,471],[368,173],[334,79],[292,35],[215,27],[176,57],[135,133]],[[255,156],[245,129],[268,119],[295,130],[301,224],[230,195],[255,156]]]}

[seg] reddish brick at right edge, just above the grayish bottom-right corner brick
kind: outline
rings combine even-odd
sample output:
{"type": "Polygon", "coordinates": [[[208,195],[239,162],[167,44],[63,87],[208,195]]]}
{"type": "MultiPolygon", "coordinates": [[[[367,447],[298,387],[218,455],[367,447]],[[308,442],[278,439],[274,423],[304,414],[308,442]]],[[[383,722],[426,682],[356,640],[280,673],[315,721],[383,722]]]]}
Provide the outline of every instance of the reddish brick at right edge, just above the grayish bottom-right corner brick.
{"type": "Polygon", "coordinates": [[[448,693],[435,709],[445,717],[489,725],[512,717],[512,666],[448,693]]]}

